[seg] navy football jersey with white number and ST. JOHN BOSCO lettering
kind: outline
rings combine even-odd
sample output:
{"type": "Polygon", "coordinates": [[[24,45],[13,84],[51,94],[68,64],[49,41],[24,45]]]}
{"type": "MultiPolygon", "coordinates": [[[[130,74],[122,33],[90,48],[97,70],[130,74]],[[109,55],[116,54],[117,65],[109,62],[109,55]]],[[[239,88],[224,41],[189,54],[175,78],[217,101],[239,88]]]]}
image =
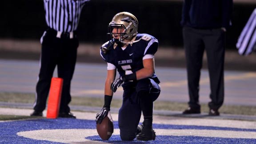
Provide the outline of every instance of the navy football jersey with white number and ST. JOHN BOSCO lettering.
{"type": "MultiPolygon", "coordinates": [[[[143,68],[143,57],[147,54],[154,55],[157,51],[158,40],[155,37],[148,34],[137,34],[134,41],[136,40],[139,41],[132,45],[129,44],[124,50],[119,45],[112,44],[106,54],[100,51],[100,55],[106,62],[116,66],[120,76],[130,74],[131,72],[128,73],[128,71],[134,73],[143,68]]],[[[111,43],[106,42],[102,47],[108,47],[109,44],[111,43]]],[[[154,74],[153,77],[156,75],[154,74]]]]}

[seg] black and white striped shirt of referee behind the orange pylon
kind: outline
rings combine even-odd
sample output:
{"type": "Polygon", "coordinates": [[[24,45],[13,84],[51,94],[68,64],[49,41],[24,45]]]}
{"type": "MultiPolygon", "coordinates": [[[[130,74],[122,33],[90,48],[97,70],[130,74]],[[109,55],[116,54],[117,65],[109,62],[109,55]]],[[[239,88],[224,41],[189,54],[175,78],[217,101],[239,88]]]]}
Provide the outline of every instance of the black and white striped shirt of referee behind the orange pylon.
{"type": "Polygon", "coordinates": [[[82,8],[89,0],[44,0],[45,20],[48,27],[59,32],[76,30],[82,8]]]}

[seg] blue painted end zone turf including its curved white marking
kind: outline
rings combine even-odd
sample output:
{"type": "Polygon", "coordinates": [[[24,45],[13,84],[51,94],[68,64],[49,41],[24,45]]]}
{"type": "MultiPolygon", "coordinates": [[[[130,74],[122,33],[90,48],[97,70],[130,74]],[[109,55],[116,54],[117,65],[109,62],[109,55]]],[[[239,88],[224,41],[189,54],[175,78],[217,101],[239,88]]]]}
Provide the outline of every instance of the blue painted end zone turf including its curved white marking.
{"type": "MultiPolygon", "coordinates": [[[[256,129],[195,125],[153,124],[156,140],[149,144],[255,144],[256,129]]],[[[0,123],[0,143],[122,143],[117,121],[107,141],[96,132],[95,120],[37,119],[0,123]]],[[[141,143],[133,140],[131,143],[141,143]]]]}

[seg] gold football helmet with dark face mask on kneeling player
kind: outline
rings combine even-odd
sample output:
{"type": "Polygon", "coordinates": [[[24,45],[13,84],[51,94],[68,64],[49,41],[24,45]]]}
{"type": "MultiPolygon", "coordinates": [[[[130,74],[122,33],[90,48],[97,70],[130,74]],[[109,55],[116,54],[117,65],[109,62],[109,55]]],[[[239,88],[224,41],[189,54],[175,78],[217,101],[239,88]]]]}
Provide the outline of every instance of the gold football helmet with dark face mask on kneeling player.
{"type": "Polygon", "coordinates": [[[133,14],[120,12],[108,24],[108,34],[114,37],[114,39],[118,35],[119,39],[116,39],[116,41],[132,40],[138,33],[138,24],[139,22],[133,14]]]}

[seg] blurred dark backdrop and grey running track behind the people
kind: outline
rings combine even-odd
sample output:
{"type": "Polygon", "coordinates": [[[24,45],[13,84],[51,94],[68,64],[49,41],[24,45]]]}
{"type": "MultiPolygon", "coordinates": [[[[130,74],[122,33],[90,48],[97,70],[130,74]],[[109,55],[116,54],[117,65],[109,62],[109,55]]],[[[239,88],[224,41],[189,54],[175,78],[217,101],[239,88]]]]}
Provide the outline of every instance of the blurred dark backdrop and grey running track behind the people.
{"type": "MultiPolygon", "coordinates": [[[[255,105],[256,52],[240,56],[236,41],[256,8],[256,0],[233,1],[233,26],[227,31],[224,64],[225,104],[255,105]]],[[[98,67],[93,63],[104,63],[100,56],[100,46],[110,39],[107,32],[112,17],[118,12],[127,11],[139,20],[139,33],[148,33],[159,40],[156,67],[163,67],[157,68],[162,80],[161,99],[187,102],[185,56],[180,26],[182,4],[183,0],[91,0],[80,17],[79,63],[74,74],[72,95],[102,97],[105,64],[98,67]],[[88,72],[91,73],[87,75],[88,72]]],[[[30,92],[30,99],[33,101],[39,72],[40,37],[46,28],[43,0],[1,0],[0,93],[30,92]]],[[[209,82],[206,56],[203,68],[205,70],[202,71],[200,81],[200,96],[201,102],[207,103],[209,82]]],[[[121,89],[119,92],[121,98],[121,89]]]]}

